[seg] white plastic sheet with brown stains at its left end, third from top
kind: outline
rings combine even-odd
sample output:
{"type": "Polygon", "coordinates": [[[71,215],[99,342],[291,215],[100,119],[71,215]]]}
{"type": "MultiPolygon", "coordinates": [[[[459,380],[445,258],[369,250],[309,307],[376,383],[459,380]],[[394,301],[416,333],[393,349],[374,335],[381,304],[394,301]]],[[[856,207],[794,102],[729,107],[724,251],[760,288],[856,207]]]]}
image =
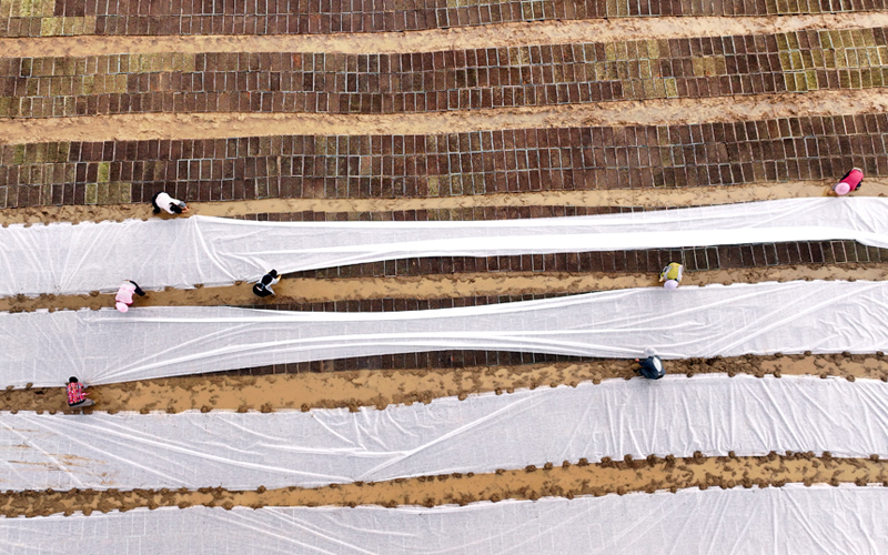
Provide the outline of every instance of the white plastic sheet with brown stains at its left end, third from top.
{"type": "Polygon", "coordinates": [[[316,487],[624,455],[888,456],[888,384],[703,375],[356,413],[0,414],[0,490],[316,487]],[[663,423],[668,422],[668,426],[663,423]]]}

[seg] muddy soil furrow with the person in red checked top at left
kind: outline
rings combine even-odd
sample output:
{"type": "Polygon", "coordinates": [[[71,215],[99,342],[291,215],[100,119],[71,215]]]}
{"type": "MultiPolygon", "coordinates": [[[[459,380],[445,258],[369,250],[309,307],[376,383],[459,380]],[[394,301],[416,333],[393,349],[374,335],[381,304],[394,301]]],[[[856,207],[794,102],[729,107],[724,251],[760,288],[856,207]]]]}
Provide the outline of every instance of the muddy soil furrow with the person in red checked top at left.
{"type": "MultiPolygon", "coordinates": [[[[463,369],[412,369],[385,371],[304,372],[287,375],[196,375],[97,385],[91,391],[95,410],[179,413],[340,408],[385,408],[390,404],[428,403],[434,398],[518,389],[576,386],[608,379],[633,379],[627,360],[593,360],[582,363],[475,366],[463,369]]],[[[324,366],[321,366],[324,369],[324,366]]],[[[888,381],[884,354],[771,355],[667,361],[666,372],[817,375],[821,379],[871,379],[888,381]]],[[[639,379],[640,380],[640,379],[639,379]]],[[[61,385],[61,384],[60,384],[61,385]]],[[[37,387],[0,392],[0,411],[38,411],[50,414],[67,410],[63,387],[37,387]]],[[[91,410],[89,410],[91,412],[91,410]]]]}

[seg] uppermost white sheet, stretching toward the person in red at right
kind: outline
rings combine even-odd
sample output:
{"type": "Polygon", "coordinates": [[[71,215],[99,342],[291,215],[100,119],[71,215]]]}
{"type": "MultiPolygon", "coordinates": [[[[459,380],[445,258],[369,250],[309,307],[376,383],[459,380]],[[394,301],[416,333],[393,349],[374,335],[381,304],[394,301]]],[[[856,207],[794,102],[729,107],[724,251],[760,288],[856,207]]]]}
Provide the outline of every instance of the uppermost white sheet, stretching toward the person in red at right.
{"type": "Polygon", "coordinates": [[[222,285],[416,256],[496,256],[781,241],[888,248],[888,200],[788,199],[658,212],[476,222],[173,221],[0,229],[0,295],[222,285]]]}

